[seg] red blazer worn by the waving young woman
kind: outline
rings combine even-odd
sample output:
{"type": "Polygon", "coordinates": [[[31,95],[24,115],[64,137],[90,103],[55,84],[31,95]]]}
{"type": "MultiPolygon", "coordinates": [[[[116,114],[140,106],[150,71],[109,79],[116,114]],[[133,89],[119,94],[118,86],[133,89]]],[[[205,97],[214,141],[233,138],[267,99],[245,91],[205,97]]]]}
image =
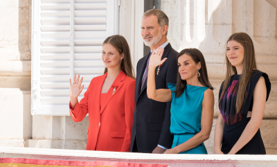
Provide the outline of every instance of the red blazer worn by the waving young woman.
{"type": "Polygon", "coordinates": [[[74,122],[82,121],[89,114],[87,150],[129,152],[133,114],[135,80],[122,70],[107,91],[100,109],[100,93],[107,73],[91,80],[84,98],[74,110],[69,103],[74,122]],[[114,92],[114,87],[116,91],[114,92]]]}

